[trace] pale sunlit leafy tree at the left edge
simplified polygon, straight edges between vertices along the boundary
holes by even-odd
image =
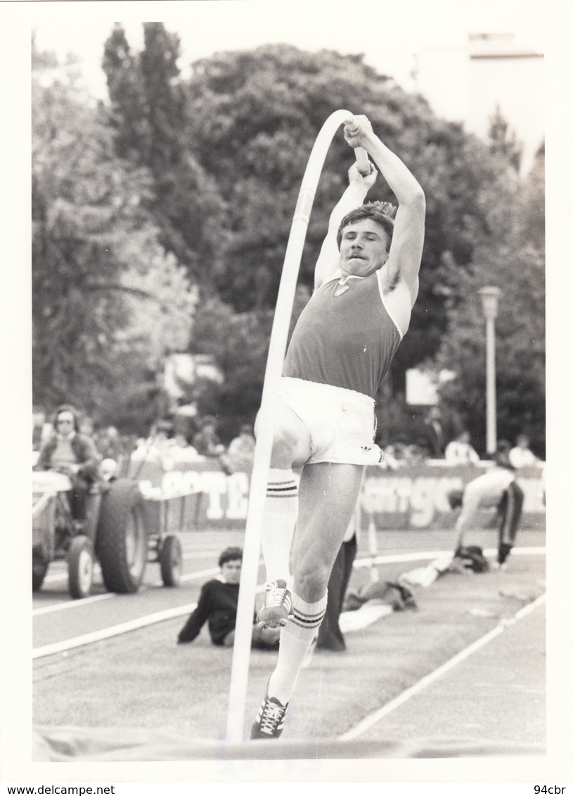
[[[108,401],[117,410],[129,392],[125,362],[135,349],[136,380],[161,366],[166,349],[185,349],[194,297],[142,206],[150,174],[115,155],[105,115],[84,102],[73,72],[46,72],[46,58],[36,64],[34,400],[72,400],[103,416]]]

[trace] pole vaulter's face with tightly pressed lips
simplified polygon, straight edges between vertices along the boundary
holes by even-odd
[[[349,224],[342,231],[341,270],[344,276],[369,276],[388,259],[388,234],[372,218]]]

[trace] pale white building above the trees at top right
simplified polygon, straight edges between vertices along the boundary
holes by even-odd
[[[415,90],[445,119],[487,135],[497,107],[523,144],[526,173],[544,140],[544,57],[513,33],[470,34],[462,47],[422,47]]]

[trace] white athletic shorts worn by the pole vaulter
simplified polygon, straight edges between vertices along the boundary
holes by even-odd
[[[378,464],[374,401],[361,392],[283,377],[279,397],[310,431],[308,464]]]

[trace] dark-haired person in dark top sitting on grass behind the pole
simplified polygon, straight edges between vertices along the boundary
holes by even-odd
[[[240,572],[243,564],[241,548],[226,548],[219,556],[220,575],[201,588],[197,608],[189,616],[177,636],[178,644],[192,642],[208,622],[211,641],[216,646],[233,646],[235,642],[236,612],[239,604]],[[278,628],[253,628],[251,646],[258,650],[276,650],[279,647]]]

